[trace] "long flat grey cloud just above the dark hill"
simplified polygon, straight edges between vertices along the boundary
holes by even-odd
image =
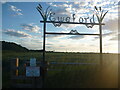
[[[8,29],[6,31],[3,31],[3,33],[10,35],[10,36],[15,36],[15,37],[31,37],[29,34],[24,33],[22,31],[16,31],[14,29]]]

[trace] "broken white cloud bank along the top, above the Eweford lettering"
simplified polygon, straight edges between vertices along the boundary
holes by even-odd
[[[94,0],[85,0],[85,1],[77,1],[77,2],[69,2],[69,3],[49,3],[50,6],[55,7],[54,11],[58,13],[75,13],[75,14],[82,14],[82,13],[90,13],[94,11],[94,6],[102,7],[104,10],[111,10],[115,6],[117,6],[117,1],[110,1],[107,2],[104,0],[101,1],[94,1]]]

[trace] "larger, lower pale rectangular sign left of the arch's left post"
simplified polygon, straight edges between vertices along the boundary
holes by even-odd
[[[39,77],[40,67],[26,67],[26,76],[27,77]]]

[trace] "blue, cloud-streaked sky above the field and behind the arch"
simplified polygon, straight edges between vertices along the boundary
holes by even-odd
[[[120,1],[118,0],[79,0],[78,2],[1,2],[2,4],[2,41],[15,42],[32,50],[40,50],[43,47],[43,23],[36,7],[41,4],[45,11],[55,13],[55,17],[70,17],[75,14],[75,22],[79,18],[92,18],[95,14],[94,6],[101,7],[104,12],[108,10],[102,27],[103,52],[118,52],[118,17]],[[49,21],[48,16],[48,21]],[[88,19],[89,22],[89,19]],[[95,22],[98,23],[95,16]],[[77,30],[79,33],[99,34],[99,26],[87,28],[86,25],[62,24],[55,27],[47,24],[47,32],[65,32]],[[46,35],[46,50],[56,52],[99,52],[99,37],[87,35]]]

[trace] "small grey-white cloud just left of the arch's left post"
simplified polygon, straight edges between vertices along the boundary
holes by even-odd
[[[24,30],[28,30],[35,33],[40,33],[41,30],[39,26],[33,24],[21,24],[21,26]]]

